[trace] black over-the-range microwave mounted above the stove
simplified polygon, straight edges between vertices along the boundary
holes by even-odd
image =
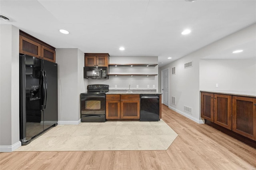
[[[108,67],[84,67],[85,79],[108,79]]]

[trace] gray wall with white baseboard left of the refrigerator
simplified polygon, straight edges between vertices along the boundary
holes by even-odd
[[[0,25],[0,152],[19,146],[19,29]]]

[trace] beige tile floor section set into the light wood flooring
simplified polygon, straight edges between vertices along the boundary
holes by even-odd
[[[167,150],[177,136],[162,119],[58,125],[15,151]]]

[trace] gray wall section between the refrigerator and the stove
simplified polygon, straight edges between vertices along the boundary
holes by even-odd
[[[80,93],[86,91],[83,78],[84,53],[77,48],[56,49],[58,63],[58,124],[80,123]]]

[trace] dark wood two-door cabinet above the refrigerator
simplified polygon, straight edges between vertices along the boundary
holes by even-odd
[[[31,55],[33,57],[45,59],[51,62],[56,61],[55,48],[51,45],[30,36],[20,30],[20,53]]]

